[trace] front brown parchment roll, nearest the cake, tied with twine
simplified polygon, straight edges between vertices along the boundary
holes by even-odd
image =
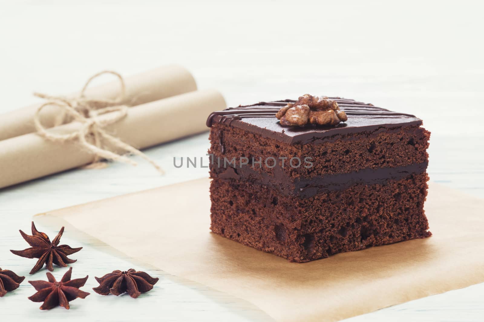
[[[207,131],[207,116],[226,107],[215,90],[185,93],[129,109],[127,117],[104,128],[136,148],[154,146]],[[111,113],[101,116],[111,117]],[[66,134],[79,130],[72,122],[49,132]],[[77,141],[54,143],[36,133],[0,141],[0,188],[90,163],[93,155]],[[156,173],[156,172],[155,172]]]

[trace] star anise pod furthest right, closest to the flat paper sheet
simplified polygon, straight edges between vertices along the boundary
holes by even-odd
[[[102,278],[96,278],[100,285],[93,290],[101,295],[111,293],[116,296],[128,292],[131,297],[136,298],[141,293],[150,291],[158,279],[145,272],[136,272],[133,268],[128,271],[113,271]]]

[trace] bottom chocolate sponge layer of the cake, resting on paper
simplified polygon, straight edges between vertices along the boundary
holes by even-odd
[[[213,179],[212,232],[292,262],[430,236],[427,174],[356,184],[310,198],[249,181]]]

